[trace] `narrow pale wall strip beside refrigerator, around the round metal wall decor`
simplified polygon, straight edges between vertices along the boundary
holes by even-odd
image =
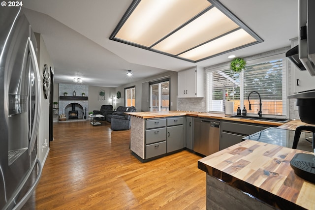
[[[48,51],[46,49],[44,40],[39,33],[35,33],[35,37],[37,40],[37,62],[39,67],[39,75],[41,76],[41,84],[43,82],[43,72],[44,65],[47,64],[48,69],[52,67],[54,69],[54,64],[50,59]],[[41,90],[43,91],[42,86]],[[49,144],[49,99],[44,98],[43,92],[41,92],[41,112],[40,112],[40,120],[39,120],[39,129],[37,135],[37,151],[38,158],[44,164],[46,157],[49,152],[49,148],[42,148],[44,143]]]

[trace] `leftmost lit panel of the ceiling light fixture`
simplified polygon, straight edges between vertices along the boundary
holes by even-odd
[[[210,5],[207,0],[141,0],[115,37],[149,47]]]

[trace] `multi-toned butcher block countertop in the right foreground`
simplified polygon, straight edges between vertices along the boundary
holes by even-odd
[[[315,184],[295,175],[295,153],[311,153],[246,140],[198,161],[198,168],[279,209],[315,209]]]

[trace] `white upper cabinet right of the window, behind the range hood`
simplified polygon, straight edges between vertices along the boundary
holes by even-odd
[[[294,39],[291,42],[291,47],[294,47],[298,44],[298,39]],[[293,93],[306,91],[306,90],[315,90],[315,76],[312,77],[309,71],[301,71],[293,63],[292,70],[292,90]]]

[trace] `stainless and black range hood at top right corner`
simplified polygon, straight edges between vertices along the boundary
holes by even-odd
[[[299,44],[286,57],[315,76],[315,0],[299,0]]]

